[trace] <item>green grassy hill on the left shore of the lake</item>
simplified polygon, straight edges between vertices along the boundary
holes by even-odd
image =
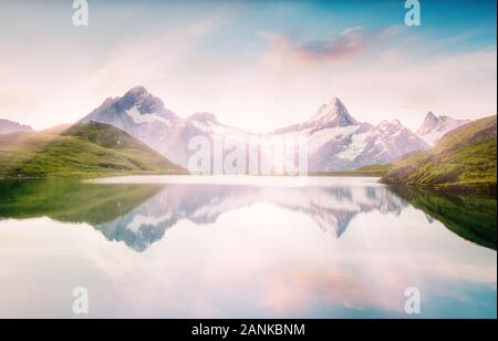
[[[181,167],[127,133],[100,123],[79,124],[61,135],[0,136],[0,177],[90,177],[180,173]]]

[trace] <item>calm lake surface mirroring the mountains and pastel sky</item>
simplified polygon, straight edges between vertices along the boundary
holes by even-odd
[[[0,182],[0,318],[496,318],[496,199],[375,178]]]

